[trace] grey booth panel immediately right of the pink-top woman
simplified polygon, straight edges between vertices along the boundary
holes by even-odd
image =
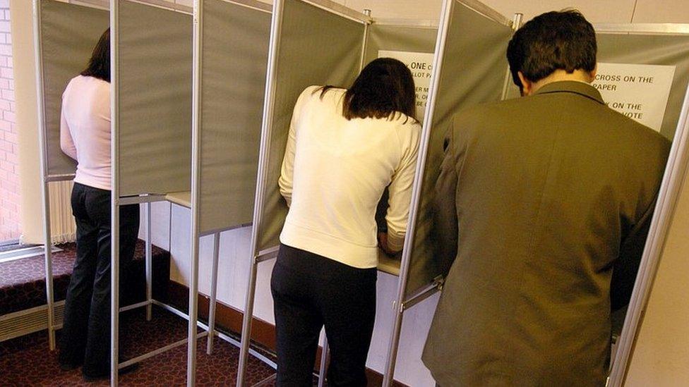
[[[188,191],[191,15],[119,1],[119,194]]]

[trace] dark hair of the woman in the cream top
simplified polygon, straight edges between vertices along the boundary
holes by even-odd
[[[320,94],[332,86],[323,87]],[[412,72],[405,63],[392,58],[378,58],[361,70],[357,80],[344,94],[342,115],[352,118],[391,118],[405,113],[416,120],[416,90]]]

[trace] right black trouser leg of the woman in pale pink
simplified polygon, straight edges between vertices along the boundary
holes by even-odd
[[[88,195],[86,208],[98,225],[97,265],[88,317],[88,340],[83,373],[88,376],[107,374],[110,367],[110,195],[94,192]],[[126,267],[134,254],[139,228],[139,206],[120,207],[120,267]],[[121,270],[124,272],[124,270]],[[122,276],[120,288],[126,281]]]

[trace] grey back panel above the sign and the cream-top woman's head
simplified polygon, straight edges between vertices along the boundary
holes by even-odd
[[[437,36],[437,27],[373,23],[369,28],[364,60],[369,63],[378,58],[379,50],[433,53]]]

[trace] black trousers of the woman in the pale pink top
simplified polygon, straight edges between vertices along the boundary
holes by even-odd
[[[83,363],[83,374],[102,376],[110,369],[110,191],[74,183],[71,202],[77,256],[67,288],[60,363]],[[120,207],[120,266],[133,258],[138,231],[138,204]]]

